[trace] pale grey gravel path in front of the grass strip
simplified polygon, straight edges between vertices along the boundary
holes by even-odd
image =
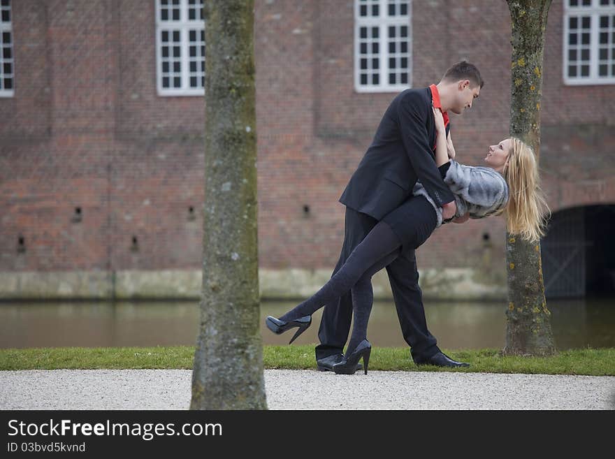
[[[187,409],[190,385],[191,370],[0,371],[0,409]],[[269,409],[615,409],[615,377],[265,370],[265,385]]]

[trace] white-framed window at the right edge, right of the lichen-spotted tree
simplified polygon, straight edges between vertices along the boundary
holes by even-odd
[[[615,85],[615,0],[565,0],[564,82]]]

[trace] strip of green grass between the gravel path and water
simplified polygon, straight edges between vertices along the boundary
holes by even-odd
[[[265,368],[316,370],[314,344],[266,346]],[[469,368],[417,367],[407,347],[372,349],[370,370],[457,371],[490,373],[588,374],[615,376],[615,349],[571,349],[553,357],[500,356],[499,349],[464,349],[444,352]],[[191,369],[194,347],[58,347],[0,349],[0,370],[58,369]]]

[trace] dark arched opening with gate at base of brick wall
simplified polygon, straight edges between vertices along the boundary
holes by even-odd
[[[615,297],[615,205],[554,212],[540,243],[547,298]]]

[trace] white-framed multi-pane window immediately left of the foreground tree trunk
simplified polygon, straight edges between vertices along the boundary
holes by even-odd
[[[203,0],[156,0],[159,96],[205,94]]]

